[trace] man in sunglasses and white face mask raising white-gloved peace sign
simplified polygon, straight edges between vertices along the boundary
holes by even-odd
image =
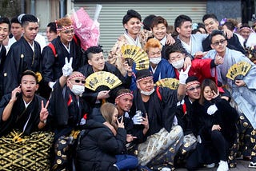
[[[76,138],[72,132],[79,130],[80,125],[85,124],[81,121],[88,113],[86,102],[80,97],[85,89],[85,77],[77,71],[73,72],[72,59],[70,58],[70,62],[67,58],[65,59],[66,64],[62,68],[63,75],[54,84],[50,98],[56,152],[53,170],[71,170],[72,144]]]

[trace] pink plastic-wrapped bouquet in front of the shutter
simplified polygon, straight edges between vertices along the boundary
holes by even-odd
[[[80,39],[83,50],[87,50],[90,46],[98,46],[100,31],[97,20],[101,9],[101,5],[96,6],[94,19],[91,19],[83,8],[75,12],[73,10],[70,16],[74,23],[74,33]]]

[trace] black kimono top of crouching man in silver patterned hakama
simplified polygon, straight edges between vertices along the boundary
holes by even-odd
[[[159,91],[161,97],[158,96],[157,91]],[[145,113],[147,113],[150,125],[150,129],[147,131],[146,136],[142,134],[142,131],[138,132],[141,133],[136,135],[138,137],[138,143],[146,141],[146,137],[158,133],[162,128],[165,128],[170,132],[174,121],[177,102],[177,90],[159,87],[158,90],[156,89],[154,93],[150,95],[148,109],[146,109],[146,103],[142,101],[140,90],[136,89],[134,91],[134,102],[130,112],[136,113],[136,110],[141,110],[143,117],[145,117]],[[132,117],[133,116],[130,118]],[[144,129],[144,125],[134,125],[134,129],[142,130]]]

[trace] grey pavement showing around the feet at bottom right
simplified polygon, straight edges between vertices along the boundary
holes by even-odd
[[[234,168],[234,169],[229,169],[230,171],[237,171],[237,170],[240,170],[240,171],[247,171],[247,170],[250,170],[250,171],[256,171],[256,169],[250,169],[248,167],[250,161],[242,161],[242,160],[237,160],[237,167]],[[186,168],[178,168],[178,169],[175,169],[176,171],[186,171],[187,169]],[[207,169],[207,168],[202,168],[202,169],[198,169],[200,171],[216,171],[217,170],[217,166],[215,166],[214,168],[212,169]]]

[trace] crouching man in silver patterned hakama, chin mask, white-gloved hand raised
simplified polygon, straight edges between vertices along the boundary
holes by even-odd
[[[174,113],[177,102],[185,95],[189,69],[180,74],[178,90],[154,87],[150,70],[138,70],[136,74],[138,89],[134,90],[134,105],[130,111],[136,113],[133,117],[134,129],[142,130],[142,134],[137,135],[140,142],[138,161],[142,166],[174,169],[174,156],[183,138],[182,128],[173,124]],[[141,125],[147,119],[149,129]]]

